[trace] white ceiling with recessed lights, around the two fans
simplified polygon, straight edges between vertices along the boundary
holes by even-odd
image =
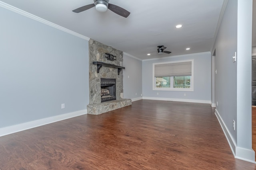
[[[210,51],[225,0],[110,0],[131,12],[128,18],[95,8],[72,12],[93,0],[1,1],[139,59],[152,59]],[[177,24],[183,27],[176,29]],[[172,53],[156,53],[158,45]]]

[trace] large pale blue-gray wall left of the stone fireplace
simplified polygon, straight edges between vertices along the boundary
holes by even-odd
[[[0,128],[86,109],[88,41],[4,8],[0,21]]]

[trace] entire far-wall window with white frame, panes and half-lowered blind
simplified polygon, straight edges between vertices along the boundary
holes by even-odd
[[[153,64],[153,90],[193,91],[193,60]]]

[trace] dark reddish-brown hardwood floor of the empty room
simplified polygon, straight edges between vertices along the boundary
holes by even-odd
[[[0,137],[0,170],[254,170],[210,104],[139,100]]]

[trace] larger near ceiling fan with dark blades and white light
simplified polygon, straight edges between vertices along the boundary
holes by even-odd
[[[125,18],[127,18],[130,15],[130,12],[125,10],[124,8],[121,8],[120,6],[116,6],[114,4],[109,4],[108,2],[109,0],[94,0],[94,4],[82,6],[80,8],[73,10],[73,12],[83,12],[95,6],[98,12],[106,12],[108,9],[110,9],[112,12]]]

